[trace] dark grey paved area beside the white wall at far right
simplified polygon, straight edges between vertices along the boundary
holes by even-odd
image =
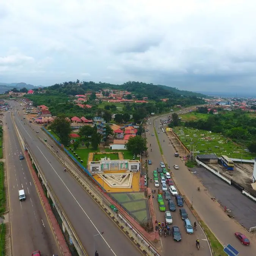
[[[232,211],[231,214],[239,223],[247,229],[255,226],[256,207],[253,201],[202,167],[192,168],[191,172],[202,181],[204,187],[217,198],[223,207],[226,206]]]

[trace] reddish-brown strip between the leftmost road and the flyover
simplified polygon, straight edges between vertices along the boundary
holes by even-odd
[[[39,178],[38,176],[36,175],[36,172],[32,166],[32,162],[29,158],[29,155],[28,155],[28,151],[25,151],[25,143],[24,143],[24,139],[22,138],[22,136],[20,135],[20,132],[16,126],[16,123],[14,122],[13,118],[12,118],[12,121],[13,121],[13,124],[14,124],[14,129],[16,131],[16,133],[18,134],[18,140],[20,142],[20,144],[22,146],[24,146],[24,149],[23,152],[24,152],[24,155],[25,155],[25,159],[28,163],[28,167],[29,167],[29,170],[30,170],[30,173],[31,173],[31,176],[33,178],[33,181],[35,183],[35,187],[36,187],[36,190],[38,192],[38,195],[39,195],[39,198],[41,200],[41,203],[42,203],[42,206],[44,208],[44,211],[47,213],[46,214],[46,217],[47,217],[47,220],[49,221],[49,225],[51,225],[51,229],[55,235],[55,239],[57,240],[58,242],[58,245],[60,247],[60,250],[61,250],[61,253],[65,256],[71,256],[71,253],[69,251],[69,248],[68,248],[68,245],[66,243],[66,240],[61,232],[61,229],[60,229],[60,226],[58,225],[58,222],[52,212],[52,209],[50,207],[50,204],[49,204],[49,201],[48,199],[46,198],[45,194],[44,194],[44,191],[43,191],[43,188],[42,188],[42,185],[39,181]],[[39,166],[38,166],[38,171],[39,171]],[[46,182],[45,182],[46,184]],[[86,255],[85,255],[86,256]]]

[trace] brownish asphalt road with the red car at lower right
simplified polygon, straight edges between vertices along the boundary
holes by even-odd
[[[166,116],[161,118],[165,119]],[[160,118],[157,118],[154,121],[154,125],[157,129],[159,126],[159,120]],[[239,255],[254,255],[256,251],[256,243],[252,242],[249,247],[245,247],[234,236],[235,232],[241,232],[246,234],[246,236],[252,240],[253,238],[251,237],[250,233],[245,231],[233,219],[229,218],[223,212],[223,209],[218,205],[218,203],[213,202],[210,199],[209,192],[204,191],[203,189],[200,192],[197,191],[198,186],[201,186],[202,188],[201,182],[199,182],[198,179],[188,171],[187,167],[184,165],[184,162],[179,157],[174,157],[175,151],[174,148],[168,143],[166,133],[159,133],[158,135],[168,165],[171,167],[174,164],[179,165],[179,170],[174,170],[171,168],[178,188],[182,190],[182,194],[185,195],[190,202],[193,201],[193,208],[199,214],[201,219],[212,230],[212,232],[224,246],[230,243],[240,252]],[[153,139],[151,138],[151,140]],[[163,142],[163,140],[165,140],[165,142]]]

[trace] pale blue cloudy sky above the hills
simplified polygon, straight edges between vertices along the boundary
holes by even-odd
[[[256,94],[254,0],[0,0],[0,82]]]

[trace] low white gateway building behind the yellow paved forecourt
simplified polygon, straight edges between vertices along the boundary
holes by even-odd
[[[105,171],[138,172],[140,170],[139,160],[110,160],[102,158],[99,161],[89,162],[89,171],[92,174],[104,173]]]

